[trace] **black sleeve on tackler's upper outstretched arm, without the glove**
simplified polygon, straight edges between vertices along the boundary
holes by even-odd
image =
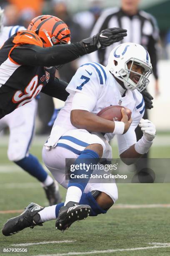
[[[10,57],[20,65],[51,67],[68,63],[86,54],[79,43],[42,48],[25,44],[13,49]]]

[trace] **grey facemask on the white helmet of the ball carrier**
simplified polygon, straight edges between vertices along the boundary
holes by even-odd
[[[130,68],[128,69],[128,64],[131,62]],[[133,67],[135,65],[140,66],[143,71],[142,74],[135,72]],[[134,76],[136,74],[136,76]],[[125,62],[125,68],[120,69],[118,72],[117,78],[124,82],[125,88],[128,90],[135,90],[137,89],[139,92],[142,92],[147,85],[149,84],[148,77],[152,74],[152,68],[146,62],[141,61],[139,59],[131,58]],[[133,80],[131,79],[133,77]],[[134,77],[138,78],[138,80]]]

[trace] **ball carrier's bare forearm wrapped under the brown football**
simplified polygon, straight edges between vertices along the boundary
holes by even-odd
[[[100,118],[86,110],[72,110],[70,121],[76,128],[90,132],[112,133],[115,129],[113,121]]]

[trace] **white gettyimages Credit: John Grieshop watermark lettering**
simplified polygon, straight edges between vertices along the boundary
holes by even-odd
[[[70,165],[70,179],[127,179],[127,175],[112,174],[110,172],[117,170],[116,164],[71,164]],[[95,170],[95,172],[91,172]],[[81,172],[77,174],[76,171]],[[83,172],[83,173],[82,173]]]

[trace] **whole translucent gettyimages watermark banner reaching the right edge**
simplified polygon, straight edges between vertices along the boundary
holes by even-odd
[[[170,158],[65,159],[65,179],[89,183],[170,183]],[[130,164],[138,162],[138,164]],[[128,163],[125,164],[125,163]],[[88,179],[88,181],[87,181]]]

